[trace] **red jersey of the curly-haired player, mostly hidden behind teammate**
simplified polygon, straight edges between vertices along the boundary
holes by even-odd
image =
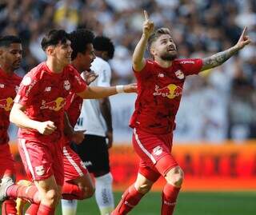
[[[67,113],[67,116],[69,117],[70,125],[73,128],[78,121],[78,117],[80,116],[82,101],[83,99],[81,97],[78,97],[76,94],[70,94],[66,99],[65,111]],[[64,145],[70,145],[70,141],[70,137],[64,137]]]

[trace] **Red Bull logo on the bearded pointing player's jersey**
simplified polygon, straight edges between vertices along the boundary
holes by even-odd
[[[182,88],[179,86],[176,86],[174,84],[170,84],[168,86],[165,86],[163,88],[160,88],[158,85],[154,88],[154,96],[162,96],[167,98],[175,98],[182,94]]]

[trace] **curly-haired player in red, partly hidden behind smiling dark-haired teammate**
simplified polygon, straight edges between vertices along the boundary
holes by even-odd
[[[73,50],[72,66],[78,70],[79,74],[85,77],[86,71],[90,70],[91,63],[94,61],[95,54],[93,48],[94,34],[90,30],[76,30],[70,33],[71,48]],[[92,78],[94,78],[92,76]],[[91,81],[90,81],[91,82]],[[89,82],[87,82],[89,84]],[[92,197],[94,194],[94,184],[90,173],[83,164],[77,153],[70,148],[71,141],[79,144],[83,138],[83,132],[74,131],[74,125],[78,121],[81,112],[83,99],[76,94],[70,94],[69,101],[66,103],[66,114],[70,122],[71,131],[66,137],[63,146],[63,162],[65,182],[62,189],[62,214],[76,214],[76,201]],[[67,136],[67,135],[66,135]]]

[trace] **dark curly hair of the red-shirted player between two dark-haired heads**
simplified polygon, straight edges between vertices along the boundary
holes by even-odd
[[[84,54],[88,44],[94,42],[94,33],[87,29],[78,29],[70,33],[69,38],[71,41],[71,48],[73,50],[71,54],[72,61],[77,58],[78,53]]]

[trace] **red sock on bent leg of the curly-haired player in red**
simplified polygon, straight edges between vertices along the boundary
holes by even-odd
[[[78,185],[73,185],[67,182],[64,182],[62,187],[62,198],[66,200],[82,200],[84,199],[85,192]]]

